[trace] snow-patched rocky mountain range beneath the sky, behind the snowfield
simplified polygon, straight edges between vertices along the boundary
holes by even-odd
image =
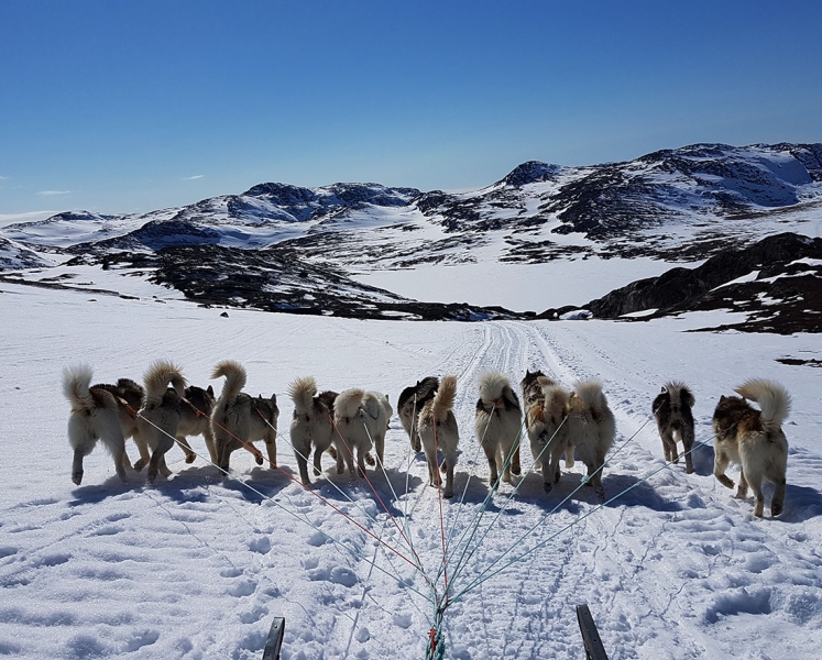
[[[469,266],[487,266],[453,294],[471,300],[471,287],[482,287],[503,267],[511,273],[514,266],[538,266],[527,286],[545,288],[533,308],[550,317],[563,309],[550,305],[551,294],[572,286],[579,268],[588,266],[596,287],[588,297],[580,292],[565,309],[612,318],[614,310],[633,315],[659,306],[614,305],[634,280],[598,272],[603,263],[631,261],[662,277],[669,267],[693,268],[769,235],[814,235],[821,218],[822,144],[695,144],[584,167],[533,161],[490,186],[459,194],[380,184],[264,183],[240,195],[143,215],[59,213],[0,230],[0,267],[15,271],[3,275],[14,280],[46,279],[41,275],[48,267],[59,267],[64,279],[66,268],[78,266],[129,275],[136,270],[210,305],[475,319],[536,312],[503,309],[505,299],[420,302],[407,287],[401,295],[375,284],[383,274],[408,273],[413,283],[435,266],[449,267],[437,275],[449,279]],[[571,263],[573,276],[565,268]],[[547,280],[545,266],[554,268]],[[738,276],[734,273],[728,268],[719,277],[727,283]],[[612,289],[609,304],[596,305],[602,296],[590,296]]]

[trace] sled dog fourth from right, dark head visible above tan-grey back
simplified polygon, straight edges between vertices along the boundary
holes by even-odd
[[[541,464],[542,487],[547,493],[559,481],[560,458],[565,457],[566,468],[573,466],[573,448],[569,447],[565,435],[557,433],[566,417],[570,393],[559,388],[540,371],[526,371],[520,386],[534,468]]]

